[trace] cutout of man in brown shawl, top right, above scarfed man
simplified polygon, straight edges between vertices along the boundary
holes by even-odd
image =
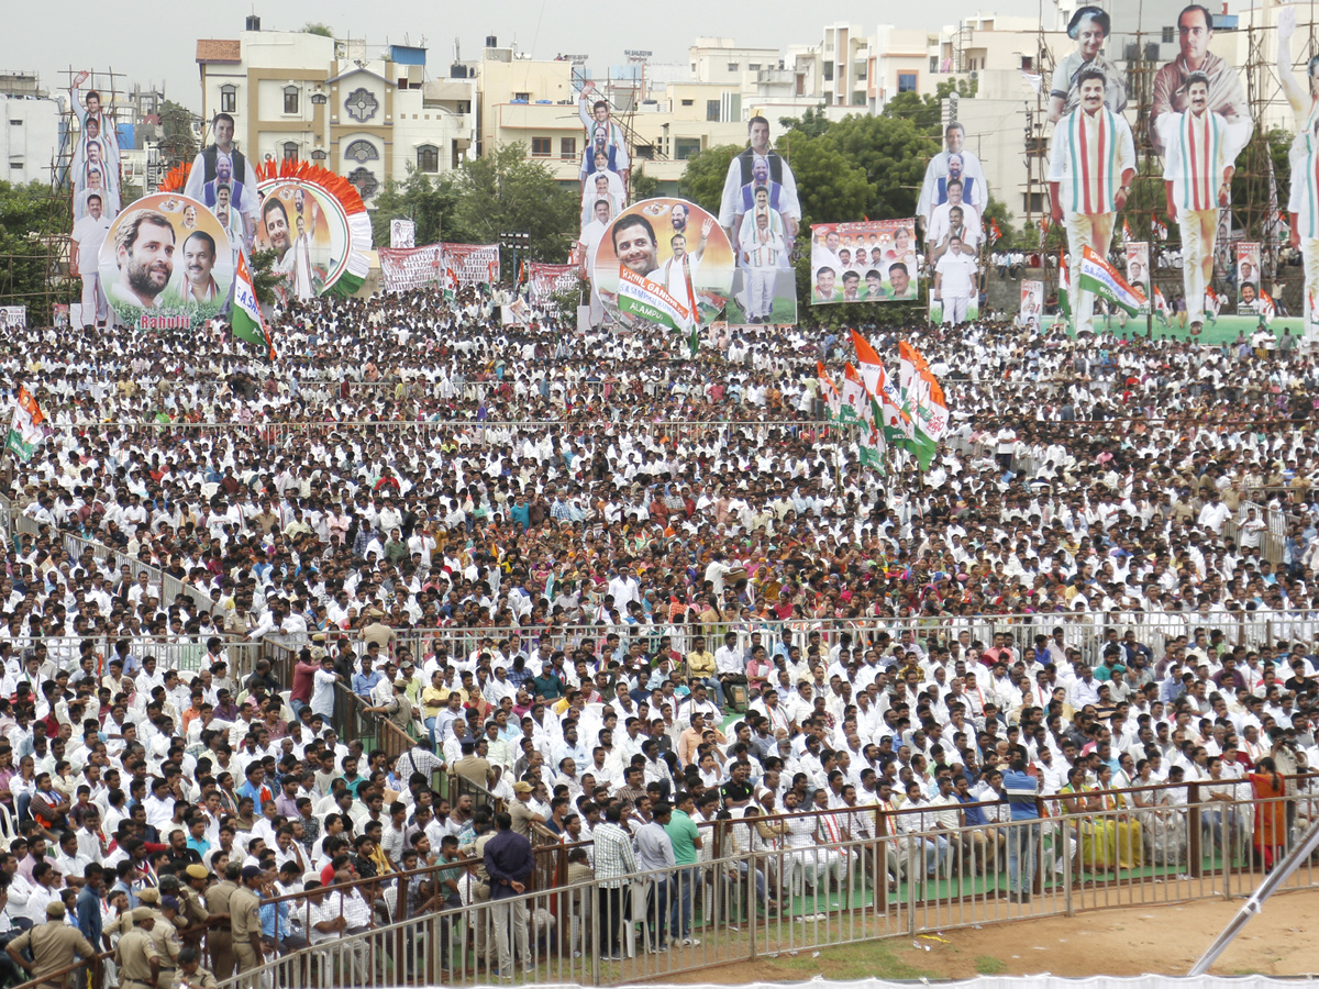
[[[1207,8],[1190,4],[1177,18],[1181,54],[1158,70],[1154,76],[1154,99],[1150,103],[1150,142],[1157,154],[1165,153],[1159,121],[1165,113],[1181,113],[1187,108],[1186,80],[1191,73],[1204,73],[1210,80],[1210,109],[1223,116],[1235,137],[1233,142],[1245,148],[1254,124],[1250,105],[1241,87],[1236,66],[1210,51],[1213,37],[1213,18]]]

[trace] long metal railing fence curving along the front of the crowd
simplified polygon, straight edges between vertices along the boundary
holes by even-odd
[[[783,819],[757,828],[747,818],[720,823],[721,848],[695,865],[600,878],[578,861],[553,885],[495,902],[475,860],[459,862],[439,909],[244,974],[276,986],[476,985],[496,973],[613,985],[894,935],[1241,897],[1319,820],[1311,794],[1224,799],[1204,782],[1058,795],[1041,807],[1039,820],[979,827],[946,827],[950,808],[930,804],[842,808],[798,815],[786,836],[772,827]],[[1316,885],[1310,862],[1283,889]]]

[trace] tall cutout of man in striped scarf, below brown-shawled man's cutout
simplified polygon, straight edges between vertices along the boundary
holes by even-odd
[[[1210,109],[1210,76],[1186,76],[1186,109],[1159,117],[1163,148],[1163,190],[1167,215],[1182,228],[1182,280],[1191,332],[1204,326],[1204,290],[1213,281],[1213,241],[1219,233],[1219,207],[1228,204],[1232,173],[1250,132],[1229,128]]]

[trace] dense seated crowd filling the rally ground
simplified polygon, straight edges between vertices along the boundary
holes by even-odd
[[[1308,355],[863,331],[890,373],[911,339],[944,382],[926,471],[864,467],[856,429],[820,422],[845,331],[718,330],[689,359],[501,326],[466,291],[293,303],[274,364],[223,327],[11,332],[7,393],[50,433],[8,472],[9,960],[62,923],[66,960],[128,942],[127,989],[223,978],[402,909],[357,878],[454,862],[409,913],[514,898],[537,829],[609,915],[629,876],[695,868],[720,815],[761,818],[727,840],[782,860],[877,837],[807,810],[930,804],[900,831],[983,828],[983,852],[1033,818],[1022,787],[1086,815],[1150,782],[1249,799],[1319,760]],[[236,669],[261,641],[294,662]],[[350,703],[415,746],[344,744]],[[1128,858],[1184,841],[1137,811]],[[787,902],[793,868],[751,872]],[[656,949],[692,940],[694,889],[658,894]],[[302,914],[261,906],[302,891]],[[504,973],[518,923],[489,939]]]

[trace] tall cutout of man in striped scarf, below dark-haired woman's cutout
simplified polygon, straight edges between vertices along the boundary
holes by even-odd
[[[1104,74],[1080,74],[1080,108],[1054,129],[1049,156],[1049,195],[1054,223],[1064,223],[1071,251],[1072,311],[1076,332],[1095,332],[1095,293],[1082,291],[1086,247],[1108,257],[1113,216],[1126,204],[1136,177],[1136,145],[1126,120],[1104,105]]]

